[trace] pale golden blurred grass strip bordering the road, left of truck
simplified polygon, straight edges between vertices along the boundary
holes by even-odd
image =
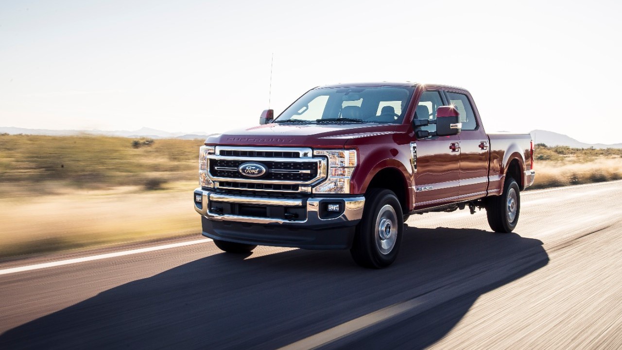
[[[195,183],[162,191],[59,188],[55,195],[0,200],[0,258],[200,234]]]

